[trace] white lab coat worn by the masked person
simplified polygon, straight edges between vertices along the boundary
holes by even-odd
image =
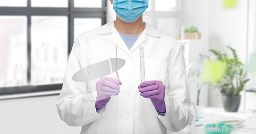
[[[122,82],[120,93],[112,96],[97,113],[95,98],[99,78],[86,83],[75,82],[72,76],[88,65],[116,58],[116,44],[118,58],[125,60],[125,65],[118,70]],[[157,80],[165,85],[164,117],[158,115],[151,100],[140,96],[138,91],[141,46],[144,47],[146,81]],[[116,73],[106,77],[116,78]],[[114,21],[79,35],[56,104],[60,118],[70,126],[82,126],[81,134],[167,133],[167,130],[182,130],[194,117],[181,45],[148,23],[130,51],[115,29]]]

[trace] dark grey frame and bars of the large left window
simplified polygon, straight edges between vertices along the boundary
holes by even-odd
[[[31,16],[67,16],[68,17],[68,53],[74,43],[74,18],[101,18],[101,25],[106,23],[106,2],[102,1],[102,8],[74,8],[74,0],[68,1],[68,8],[59,7],[31,7],[31,0],[27,0],[27,7],[1,7],[1,16],[27,16],[27,84],[26,86],[1,87],[0,100],[26,98],[45,95],[58,95],[62,84],[30,85],[31,82]],[[68,55],[67,55],[68,57]],[[48,93],[46,93],[48,92]]]

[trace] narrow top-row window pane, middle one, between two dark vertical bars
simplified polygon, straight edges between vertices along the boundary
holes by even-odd
[[[31,7],[68,7],[68,0],[31,0]]]

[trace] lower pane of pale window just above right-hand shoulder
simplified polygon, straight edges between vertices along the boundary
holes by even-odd
[[[159,18],[157,29],[160,33],[169,35],[177,39],[179,28],[179,19],[176,18]]]

